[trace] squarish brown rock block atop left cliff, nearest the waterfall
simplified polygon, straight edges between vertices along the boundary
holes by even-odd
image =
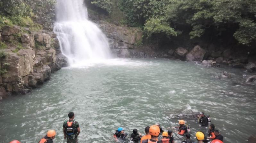
[[[52,44],[52,38],[50,35],[45,33],[35,33],[33,36],[36,42],[36,48],[39,48],[40,50],[50,49]]]

